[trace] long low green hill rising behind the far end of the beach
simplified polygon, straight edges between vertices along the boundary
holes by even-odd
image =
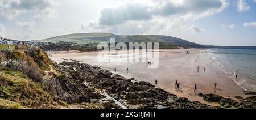
[[[43,42],[57,43],[74,42],[80,45],[95,44],[100,42],[109,42],[110,38],[115,38],[116,42],[159,42],[159,48],[206,48],[204,45],[195,44],[180,38],[160,35],[114,35],[110,33],[77,33],[63,35],[45,40],[36,40]]]

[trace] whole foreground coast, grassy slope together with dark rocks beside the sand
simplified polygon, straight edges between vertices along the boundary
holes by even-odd
[[[256,108],[255,97],[234,101],[203,95],[224,108]],[[0,108],[218,109],[189,101],[147,82],[126,79],[79,62],[57,65],[39,48],[17,46],[0,52]]]

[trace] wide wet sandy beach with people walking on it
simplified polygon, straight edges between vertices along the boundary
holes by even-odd
[[[47,54],[57,63],[73,59],[106,68],[112,70],[112,72],[114,72],[114,68],[117,68],[117,74],[126,78],[136,78],[150,82],[151,84],[155,84],[155,79],[157,79],[159,88],[205,104],[209,103],[195,95],[193,91],[195,84],[197,84],[198,91],[201,93],[214,93],[233,99],[236,99],[234,96],[248,96],[243,93],[241,87],[225,75],[225,72],[217,67],[216,61],[209,57],[204,49],[189,49],[190,54],[186,54],[186,50],[160,49],[159,67],[155,69],[147,68],[146,63],[100,63],[97,61],[99,52],[69,51],[47,52]],[[197,71],[197,67],[199,67],[199,71]],[[126,68],[129,68],[128,74]],[[175,91],[175,80],[180,85],[181,91],[179,92]],[[214,89],[215,82],[217,82],[216,90]],[[217,103],[210,103],[209,105],[218,106]]]

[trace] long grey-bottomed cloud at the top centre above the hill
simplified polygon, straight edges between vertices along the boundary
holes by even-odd
[[[225,0],[151,0],[146,3],[129,1],[123,5],[104,8],[100,12],[100,25],[117,25],[127,21],[151,20],[154,17],[170,17],[185,14],[212,14],[223,6]]]

